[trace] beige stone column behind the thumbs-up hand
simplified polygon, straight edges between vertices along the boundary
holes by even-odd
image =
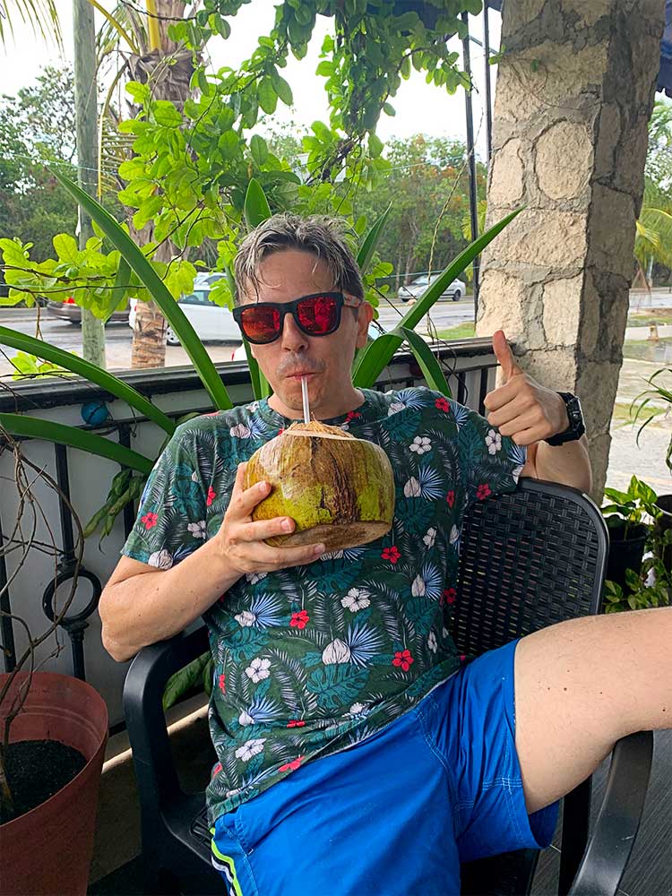
[[[665,0],[505,0],[477,333],[575,392],[601,499]]]

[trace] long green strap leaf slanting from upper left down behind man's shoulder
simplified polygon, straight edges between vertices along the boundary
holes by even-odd
[[[117,221],[98,202],[91,199],[71,180],[56,171],[52,174],[56,177],[73,199],[80,203],[84,211],[87,211],[92,220],[95,220],[99,228],[108,237],[109,241],[119,252],[124,255],[126,261],[140,278],[142,285],[147,288],[151,297],[161,309],[161,313],[167,318],[168,323],[182,343],[189,358],[192,359],[196,372],[201,378],[205,389],[210,393],[212,402],[217,409],[230,409],[233,402],[228,396],[224,383],[217,373],[215,366],[203,347],[202,341],[196,336],[194,327],[186,319],[182,308],[177,304],[168,292],[168,289],[159,278],[159,275],[145,258],[138,246],[129,237]]]

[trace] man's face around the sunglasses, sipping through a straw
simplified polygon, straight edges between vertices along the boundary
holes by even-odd
[[[334,284],[327,266],[314,254],[285,249],[266,258],[257,272],[258,295],[248,289],[244,304],[291,302]],[[353,389],[350,367],[355,349],[366,345],[366,332],[373,317],[367,302],[356,311],[344,307],[340,327],[329,336],[308,336],[291,314],[286,314],[282,332],[267,345],[251,346],[254,358],[273,389],[271,407],[284,417],[302,418],[301,375],[307,375],[311,414],[318,419],[337,417],[356,407],[361,398]]]

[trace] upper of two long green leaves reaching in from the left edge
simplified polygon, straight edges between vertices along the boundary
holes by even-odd
[[[54,364],[65,367],[67,370],[71,370],[73,374],[79,374],[90,380],[91,383],[96,383],[96,385],[99,385],[112,395],[116,395],[116,398],[122,399],[130,407],[153,420],[168,435],[172,435],[175,432],[173,421],[162,410],[159,410],[156,405],[153,405],[151,401],[146,399],[144,395],[137,392],[133,386],[129,386],[115,375],[109,374],[102,367],[73,355],[72,352],[58,349],[55,345],[50,345],[48,342],[34,339],[32,336],[26,336],[24,333],[16,332],[9,327],[3,326],[0,326],[0,345],[28,351],[32,355],[37,355],[38,358],[45,358],[47,361],[52,361]]]

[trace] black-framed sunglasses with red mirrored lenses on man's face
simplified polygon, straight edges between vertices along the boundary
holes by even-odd
[[[293,302],[257,302],[233,309],[234,320],[248,342],[266,345],[280,337],[285,314],[291,314],[306,336],[328,336],[340,326],[343,306],[357,308],[360,298],[344,296],[342,292],[316,292]]]

